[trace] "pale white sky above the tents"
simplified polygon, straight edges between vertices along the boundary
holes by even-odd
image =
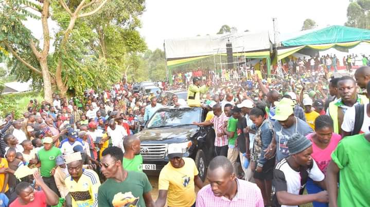
[[[319,27],[344,25],[349,0],[146,0],[140,34],[148,48],[163,49],[165,39],[216,34],[222,25],[238,32],[273,31],[277,18],[280,33],[301,30],[306,18]]]

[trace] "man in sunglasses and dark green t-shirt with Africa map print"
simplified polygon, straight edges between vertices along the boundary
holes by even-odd
[[[98,206],[155,206],[152,186],[143,172],[126,171],[122,166],[124,153],[116,146],[102,153],[101,172],[107,178],[98,190]]]

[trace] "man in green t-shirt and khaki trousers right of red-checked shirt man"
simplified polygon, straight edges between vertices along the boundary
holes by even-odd
[[[231,104],[226,104],[223,110],[226,117],[229,117],[227,121],[227,126],[224,126],[223,128],[223,133],[228,137],[227,159],[229,159],[230,162],[233,164],[234,173],[238,175],[238,170],[235,166],[236,159],[238,159],[239,156],[239,149],[237,147],[237,143],[235,143],[238,138],[238,120],[234,119],[231,115],[232,111],[238,110],[240,112],[240,109],[231,109]]]

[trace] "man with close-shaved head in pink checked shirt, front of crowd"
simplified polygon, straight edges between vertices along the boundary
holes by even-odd
[[[257,185],[238,179],[233,172],[233,165],[226,157],[217,156],[210,161],[207,179],[209,184],[198,192],[197,207],[265,206]]]

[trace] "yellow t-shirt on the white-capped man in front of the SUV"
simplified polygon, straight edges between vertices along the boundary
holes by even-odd
[[[160,173],[158,190],[168,190],[168,206],[191,206],[196,200],[194,176],[198,169],[193,159],[184,157],[185,164],[174,168],[168,162]]]

